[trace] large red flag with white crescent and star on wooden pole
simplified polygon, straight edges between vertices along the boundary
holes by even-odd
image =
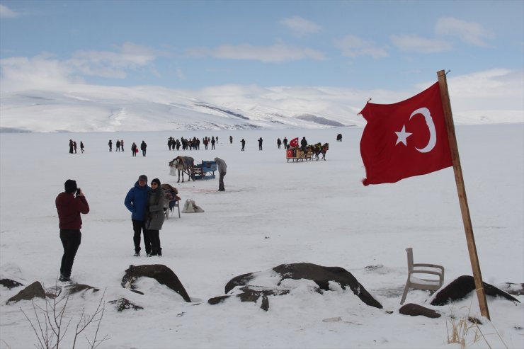
[[[364,185],[395,183],[452,166],[438,82],[406,101],[367,103],[360,139]]]

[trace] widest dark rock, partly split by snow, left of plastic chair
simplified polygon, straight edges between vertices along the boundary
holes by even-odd
[[[373,298],[372,295],[365,290],[363,285],[360,285],[360,282],[346,269],[340,267],[324,267],[312,263],[292,263],[278,265],[273,268],[273,270],[280,275],[280,282],[284,279],[308,279],[314,281],[321,290],[329,290],[329,282],[331,281],[338,282],[344,290],[346,290],[346,287],[350,287],[353,293],[365,304],[382,309],[382,304]],[[229,291],[237,286],[249,285],[249,282],[251,282],[255,276],[256,273],[247,273],[229,280],[225,287],[225,292],[229,293]]]

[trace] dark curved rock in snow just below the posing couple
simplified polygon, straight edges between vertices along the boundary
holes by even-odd
[[[186,289],[183,287],[182,282],[178,280],[176,274],[173,273],[173,270],[162,264],[130,265],[129,269],[125,270],[125,275],[120,285],[124,288],[136,290],[135,281],[142,277],[155,279],[162,285],[166,285],[171,290],[180,294],[186,302],[191,302],[188,292],[186,292]]]

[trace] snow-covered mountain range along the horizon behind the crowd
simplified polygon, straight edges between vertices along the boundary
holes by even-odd
[[[375,92],[380,94],[379,92]],[[389,93],[387,97],[398,98]],[[377,98],[379,99],[379,98]],[[384,99],[384,98],[380,98]],[[380,100],[379,99],[379,100]],[[1,92],[0,132],[249,130],[363,126],[368,98],[340,88],[219,86],[205,91],[72,85]],[[518,110],[463,110],[457,124],[522,122]],[[458,117],[457,117],[458,116]]]

